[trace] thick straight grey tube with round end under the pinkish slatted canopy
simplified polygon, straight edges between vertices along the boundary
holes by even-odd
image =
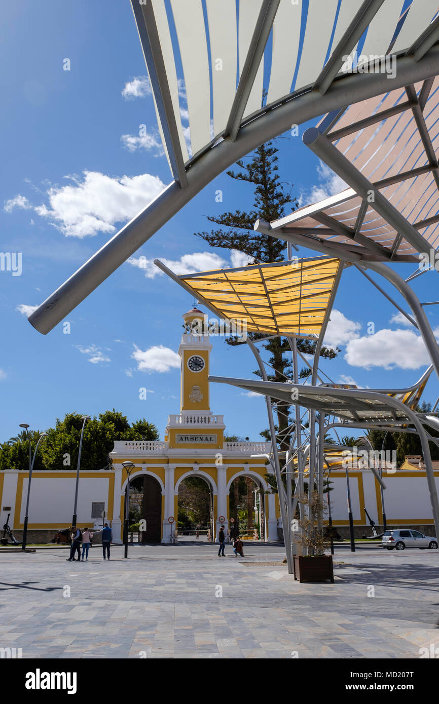
[[[407,239],[407,242],[418,252],[423,252],[426,249],[426,241],[421,237],[413,225],[404,218],[404,215],[399,210],[392,206],[392,203],[383,196],[383,194],[374,186],[365,176],[359,172],[357,168],[338,151],[324,134],[319,132],[316,127],[309,127],[303,135],[303,142],[309,149],[322,159],[336,174],[350,185],[354,191],[371,203],[374,210],[381,215],[387,222],[402,236]]]

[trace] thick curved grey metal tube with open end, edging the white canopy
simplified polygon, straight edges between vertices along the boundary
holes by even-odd
[[[433,46],[418,62],[411,56],[397,58],[397,74],[392,79],[392,88],[402,88],[410,83],[425,80],[436,75],[438,70],[439,46]],[[288,96],[276,109],[271,106],[270,109],[262,110],[252,121],[241,127],[235,142],[224,139],[215,146],[211,145],[202,156],[194,159],[187,170],[187,188],[181,189],[176,182],[169,184],[152,203],[132,218],[30,315],[30,324],[42,334],[50,332],[157,230],[171,220],[180,208],[189,203],[206,184],[237,159],[268,139],[289,130],[292,123],[302,125],[307,120],[318,118],[319,115],[329,113],[340,106],[350,105],[353,101],[360,102],[386,93],[388,89],[389,81],[385,74],[346,75],[334,81],[324,96],[308,90],[294,97]],[[335,256],[340,255],[337,252]]]

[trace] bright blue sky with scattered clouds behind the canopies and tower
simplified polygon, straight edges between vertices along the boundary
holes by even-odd
[[[20,276],[0,272],[1,440],[16,434],[20,422],[44,429],[70,411],[94,415],[113,407],[130,421],[147,417],[163,437],[168,414],[179,410],[175,352],[181,315],[193,301],[135,259],[158,257],[174,269],[189,263],[194,271],[218,268],[219,259],[230,265],[228,251],[209,248],[193,233],[209,230],[205,215],[252,206],[251,190],[218,177],[70,314],[70,334],[62,323],[45,337],[37,333],[20,306],[41,303],[171,177],[128,2],[45,0],[42,9],[23,0],[6,4],[3,14],[0,249],[21,252],[23,270]],[[70,70],[63,70],[66,58]],[[136,137],[141,124],[147,126],[142,143]],[[280,177],[303,202],[311,201],[313,189],[330,193],[337,185],[303,146],[306,127],[278,142]],[[407,277],[415,268],[397,270]],[[413,282],[421,301],[438,298],[437,276],[428,272]],[[329,341],[342,352],[323,361],[332,379],[399,387],[421,376],[427,362],[416,331],[390,322],[397,311],[352,268],[342,277],[335,309]],[[426,310],[438,327],[436,307]],[[369,322],[375,334],[367,334]],[[247,348],[229,348],[222,339],[213,344],[213,374],[250,377],[255,364]],[[166,349],[154,353],[156,346]],[[262,398],[212,386],[211,408],[225,415],[228,432],[259,439],[266,427]],[[142,401],[141,387],[148,389]],[[434,402],[438,395],[431,379],[423,398]]]

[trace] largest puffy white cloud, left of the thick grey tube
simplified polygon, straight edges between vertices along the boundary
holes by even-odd
[[[114,223],[126,222],[163,190],[159,177],[110,177],[85,171],[83,180],[68,177],[73,184],[47,191],[50,207],[35,208],[67,237],[87,237],[98,232],[113,234]]]

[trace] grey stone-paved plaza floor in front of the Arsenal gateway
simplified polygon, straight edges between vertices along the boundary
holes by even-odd
[[[439,647],[438,551],[336,548],[299,584],[280,545],[0,553],[0,647],[22,658],[419,658]],[[256,563],[256,564],[255,564]],[[257,564],[263,563],[263,564]]]

